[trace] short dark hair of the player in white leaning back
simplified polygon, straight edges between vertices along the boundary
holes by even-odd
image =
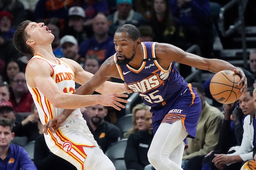
[[[29,35],[26,33],[25,29],[29,23],[32,23],[32,21],[25,20],[20,23],[12,39],[14,47],[17,49],[17,51],[24,55],[34,55],[33,49],[26,44],[26,40],[29,38]]]

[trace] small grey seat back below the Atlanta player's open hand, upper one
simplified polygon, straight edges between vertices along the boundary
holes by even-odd
[[[133,127],[132,125],[132,114],[126,114],[125,116],[120,117],[116,121],[116,126],[119,127],[122,133],[127,132]]]

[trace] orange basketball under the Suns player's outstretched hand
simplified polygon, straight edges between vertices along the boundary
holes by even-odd
[[[235,74],[234,71],[219,71],[210,81],[209,88],[212,97],[223,104],[236,102],[242,94],[240,92],[242,85],[237,85],[240,79],[239,75]]]

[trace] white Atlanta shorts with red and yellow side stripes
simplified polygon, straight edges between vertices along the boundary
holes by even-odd
[[[49,150],[72,163],[78,170],[84,169],[84,161],[88,156],[84,150],[99,148],[86,121],[79,115],[68,117],[56,133],[49,129],[47,131],[48,135],[44,135],[44,138]]]

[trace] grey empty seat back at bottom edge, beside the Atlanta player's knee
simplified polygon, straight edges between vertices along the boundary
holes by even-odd
[[[125,166],[125,148],[127,139],[115,142],[108,148],[105,154],[113,162],[116,170],[127,170]]]

